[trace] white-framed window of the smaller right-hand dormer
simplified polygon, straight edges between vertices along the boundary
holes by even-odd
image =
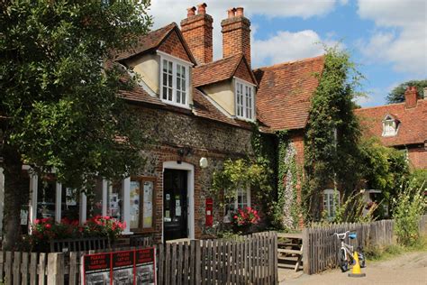
[[[255,88],[236,78],[236,116],[244,120],[255,120]]]

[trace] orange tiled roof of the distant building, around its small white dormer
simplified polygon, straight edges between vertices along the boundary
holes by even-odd
[[[418,99],[417,106],[405,108],[404,103],[360,108],[355,110],[362,131],[376,136],[386,146],[423,143],[427,140],[427,100]],[[392,115],[400,123],[395,136],[383,137],[383,120]]]

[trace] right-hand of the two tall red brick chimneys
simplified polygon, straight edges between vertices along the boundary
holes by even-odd
[[[223,57],[243,53],[250,64],[250,20],[245,18],[243,7],[227,10],[223,27]]]

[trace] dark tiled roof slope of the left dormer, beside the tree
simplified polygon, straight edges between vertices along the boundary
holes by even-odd
[[[150,51],[159,47],[161,41],[165,39],[170,31],[177,28],[177,23],[169,23],[167,26],[160,28],[159,30],[144,34],[138,39],[135,46],[127,51],[118,52],[114,60],[125,60],[132,56],[140,54],[145,51]]]

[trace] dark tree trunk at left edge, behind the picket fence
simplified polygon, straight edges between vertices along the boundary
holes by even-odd
[[[23,163],[16,150],[5,146],[5,207],[3,216],[3,250],[10,251],[21,240],[21,206],[23,198],[28,197],[23,183]],[[26,188],[28,190],[28,186]]]

